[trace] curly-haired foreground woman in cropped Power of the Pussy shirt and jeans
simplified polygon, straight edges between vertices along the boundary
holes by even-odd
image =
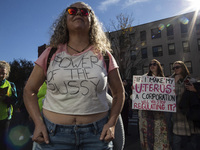
[[[83,2],[71,4],[54,25],[50,46],[35,62],[24,88],[24,103],[35,124],[32,139],[43,150],[112,149],[124,87],[109,40],[92,8]],[[46,71],[52,47],[57,50]],[[37,92],[45,79],[41,115]],[[111,110],[107,81],[113,96]]]

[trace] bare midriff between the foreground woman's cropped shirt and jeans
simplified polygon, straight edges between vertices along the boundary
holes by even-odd
[[[55,113],[43,109],[44,116],[51,122],[61,125],[82,125],[98,121],[108,115],[108,112],[102,112],[92,115],[66,115]]]

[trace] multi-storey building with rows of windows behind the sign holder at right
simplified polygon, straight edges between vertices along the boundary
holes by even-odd
[[[125,78],[132,79],[134,74],[146,73],[150,60],[155,58],[161,62],[166,76],[173,73],[173,62],[182,60],[191,76],[200,79],[200,12],[190,12],[132,28],[134,30],[128,31],[129,35],[123,38],[116,36],[120,31],[109,33],[112,46],[114,39],[118,38],[120,55],[124,57],[124,61],[118,63],[125,63],[130,58],[125,68],[131,71]],[[129,42],[124,44],[124,41]],[[116,51],[114,47],[113,51]],[[126,51],[129,51],[129,56],[125,55]]]

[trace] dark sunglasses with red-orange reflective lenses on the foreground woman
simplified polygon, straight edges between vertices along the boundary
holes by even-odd
[[[88,16],[91,12],[90,9],[87,9],[87,8],[76,8],[76,7],[68,7],[66,9],[66,11],[70,14],[70,15],[76,15],[78,10],[81,11],[81,15],[82,16]]]

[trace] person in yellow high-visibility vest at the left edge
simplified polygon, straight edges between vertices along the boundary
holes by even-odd
[[[6,150],[6,135],[13,113],[13,105],[17,103],[17,91],[14,83],[7,80],[10,65],[0,61],[0,148]]]

